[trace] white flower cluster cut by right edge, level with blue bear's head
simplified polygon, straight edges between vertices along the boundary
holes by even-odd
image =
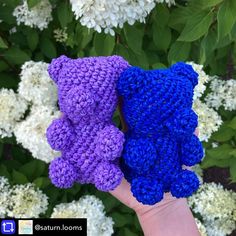
[[[225,110],[236,109],[236,80],[220,80],[215,77],[210,83],[211,92],[206,96],[208,106],[218,109],[223,106]]]

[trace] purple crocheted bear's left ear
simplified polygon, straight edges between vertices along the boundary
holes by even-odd
[[[55,58],[51,61],[51,63],[48,66],[48,73],[51,79],[57,83],[58,82],[58,76],[60,73],[60,70],[62,69],[62,66],[64,63],[68,62],[70,58],[62,55],[58,58]]]

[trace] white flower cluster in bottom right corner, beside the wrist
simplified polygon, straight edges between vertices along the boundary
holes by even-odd
[[[195,214],[200,214],[209,236],[225,236],[236,227],[236,193],[216,183],[204,183],[188,199]]]

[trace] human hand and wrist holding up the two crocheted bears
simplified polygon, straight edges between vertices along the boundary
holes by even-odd
[[[133,197],[125,179],[110,193],[136,212],[145,236],[200,236],[185,198],[165,193],[161,202],[143,205]]]

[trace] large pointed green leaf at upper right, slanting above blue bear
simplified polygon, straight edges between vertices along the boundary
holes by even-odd
[[[213,12],[201,11],[188,19],[178,41],[192,42],[202,37],[209,29]]]

